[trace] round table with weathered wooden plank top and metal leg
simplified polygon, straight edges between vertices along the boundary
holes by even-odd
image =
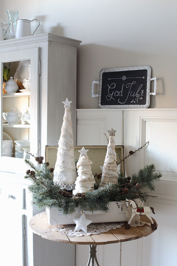
[[[141,220],[147,221],[149,223],[149,219],[145,217],[145,215],[141,217]],[[154,219],[153,221],[157,224]],[[65,234],[53,230],[53,228],[55,228],[56,226],[51,226],[48,224],[47,214],[45,212],[36,214],[33,218],[31,218],[31,220],[29,221],[29,226],[31,227],[33,233],[42,236],[42,238],[61,243],[89,245],[90,256],[87,266],[90,265],[90,262],[91,266],[94,266],[94,260],[99,266],[98,260],[96,258],[97,245],[106,245],[118,242],[120,242],[121,244],[121,242],[142,238],[154,232],[151,226],[148,225],[130,227],[129,230],[126,230],[125,226],[121,226],[121,228],[111,229],[108,232],[101,234],[69,237]]]

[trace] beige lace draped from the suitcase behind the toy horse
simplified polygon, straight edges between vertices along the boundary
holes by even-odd
[[[140,199],[134,199],[134,200],[136,201],[136,203],[137,203],[137,205],[139,207],[143,207],[143,203],[142,203],[142,201]],[[131,216],[132,216],[132,208],[127,208],[126,201],[121,201],[121,205],[122,205],[123,211],[125,212],[125,214],[127,216],[127,221],[129,221]],[[142,226],[144,224],[151,225],[151,223],[146,223],[146,222],[140,221],[140,215],[136,214],[133,217],[133,219],[132,219],[132,221],[130,223],[130,226],[136,227],[136,226]]]

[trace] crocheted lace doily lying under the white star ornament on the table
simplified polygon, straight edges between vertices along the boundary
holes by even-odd
[[[121,225],[124,225],[124,222],[117,223],[90,223],[87,226],[87,233],[84,231],[74,231],[75,225],[65,225],[64,228],[61,226],[53,228],[54,231],[60,232],[68,236],[87,236],[90,234],[100,234],[108,232],[111,229],[121,228]]]

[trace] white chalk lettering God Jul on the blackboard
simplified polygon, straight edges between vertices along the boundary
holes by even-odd
[[[136,97],[136,99],[132,100],[132,102],[138,102],[138,98],[142,100],[141,96],[143,96],[143,90],[141,90],[142,85],[143,84],[141,84],[138,87],[138,89],[136,89],[136,81],[133,81],[132,83],[123,84],[121,90],[118,91],[118,90],[115,90],[116,89],[115,83],[111,83],[111,85],[108,84],[108,95],[106,96],[106,99],[110,101],[111,99],[116,100],[115,97],[119,97],[118,102],[123,104],[127,102],[127,99],[130,95],[131,97]],[[139,93],[140,90],[141,90],[141,93]]]

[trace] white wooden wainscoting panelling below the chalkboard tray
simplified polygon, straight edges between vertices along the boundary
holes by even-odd
[[[100,266],[177,265],[177,109],[78,109],[77,145],[106,145],[103,133],[113,127],[116,144],[124,144],[125,156],[149,140],[149,144],[125,160],[127,176],[154,163],[163,174],[147,205],[153,206],[158,229],[146,238],[97,247]],[[89,247],[76,247],[76,266],[86,265]]]

